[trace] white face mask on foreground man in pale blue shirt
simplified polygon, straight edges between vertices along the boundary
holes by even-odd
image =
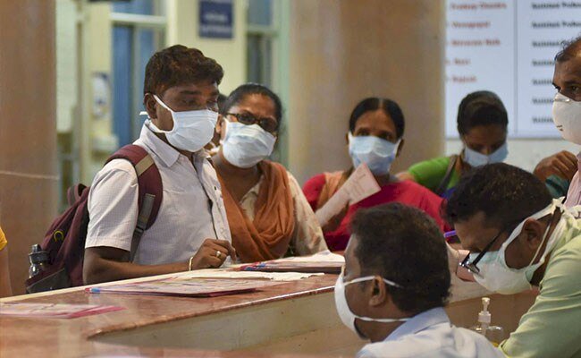
[[[375,278],[375,276],[358,277],[358,278],[352,279],[348,282],[344,282],[343,281],[343,274],[341,273],[341,275],[339,277],[337,277],[337,283],[335,284],[334,294],[335,294],[335,307],[337,308],[337,313],[339,313],[339,317],[341,318],[341,321],[343,322],[343,324],[345,326],[347,326],[347,328],[349,328],[350,330],[355,332],[358,335],[358,337],[360,337],[362,339],[364,339],[365,337],[362,337],[361,333],[355,327],[355,319],[366,320],[368,322],[381,322],[381,323],[392,323],[392,322],[401,322],[401,321],[409,320],[408,318],[406,318],[406,319],[372,319],[369,317],[358,316],[349,309],[349,303],[347,302],[347,296],[345,295],[345,286],[349,286],[351,284],[355,284],[358,282],[371,281],[374,278]],[[385,282],[389,286],[401,287],[400,285],[398,285],[395,282],[392,282],[388,279],[385,279],[385,278],[382,278],[382,279],[383,279],[383,282]]]

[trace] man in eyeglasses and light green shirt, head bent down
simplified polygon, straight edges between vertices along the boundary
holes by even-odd
[[[509,357],[581,356],[581,221],[535,175],[493,164],[464,176],[446,206],[462,246],[460,262],[500,294],[540,294],[501,343]]]

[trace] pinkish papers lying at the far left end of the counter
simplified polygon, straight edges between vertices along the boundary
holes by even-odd
[[[0,316],[74,319],[122,309],[122,307],[97,304],[0,303]]]

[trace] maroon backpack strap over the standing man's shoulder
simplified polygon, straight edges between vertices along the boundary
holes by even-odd
[[[107,159],[107,163],[114,159],[125,159],[135,168],[139,186],[139,215],[137,226],[131,240],[131,261],[137,252],[139,241],[143,233],[156,221],[164,195],[162,177],[159,169],[146,149],[136,144],[128,144],[117,150]]]

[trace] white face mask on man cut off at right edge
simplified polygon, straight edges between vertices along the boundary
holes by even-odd
[[[581,145],[581,101],[557,93],[552,102],[552,121],[565,141]]]

